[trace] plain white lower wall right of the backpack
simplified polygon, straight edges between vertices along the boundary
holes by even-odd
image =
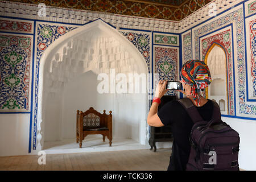
[[[256,170],[256,122],[247,119],[222,117],[240,135],[240,151],[238,162],[240,168]]]

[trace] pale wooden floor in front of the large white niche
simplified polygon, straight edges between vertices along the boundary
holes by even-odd
[[[171,149],[48,154],[46,165],[38,155],[0,157],[0,170],[110,170],[166,171]]]

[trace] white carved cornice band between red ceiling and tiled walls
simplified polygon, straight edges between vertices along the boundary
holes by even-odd
[[[213,0],[219,14],[243,0]],[[0,15],[31,20],[85,24],[96,19],[102,19],[118,28],[130,28],[147,31],[172,32],[179,34],[196,26],[208,18],[210,7],[204,6],[181,21],[144,18],[138,16],[110,14],[98,11],[67,9],[63,7],[46,6],[46,16],[38,16],[38,6],[28,3],[0,1]]]

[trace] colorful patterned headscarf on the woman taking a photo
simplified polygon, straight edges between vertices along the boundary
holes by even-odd
[[[183,64],[180,76],[186,84],[192,86],[193,100],[195,100],[197,106],[200,106],[201,91],[209,86],[212,81],[207,64],[200,60],[189,60]]]

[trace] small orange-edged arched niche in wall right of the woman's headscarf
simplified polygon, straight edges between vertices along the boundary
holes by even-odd
[[[228,86],[226,69],[226,52],[218,43],[213,43],[205,55],[205,63],[208,65],[212,82],[205,89],[205,96],[220,103],[221,114],[228,114]]]

